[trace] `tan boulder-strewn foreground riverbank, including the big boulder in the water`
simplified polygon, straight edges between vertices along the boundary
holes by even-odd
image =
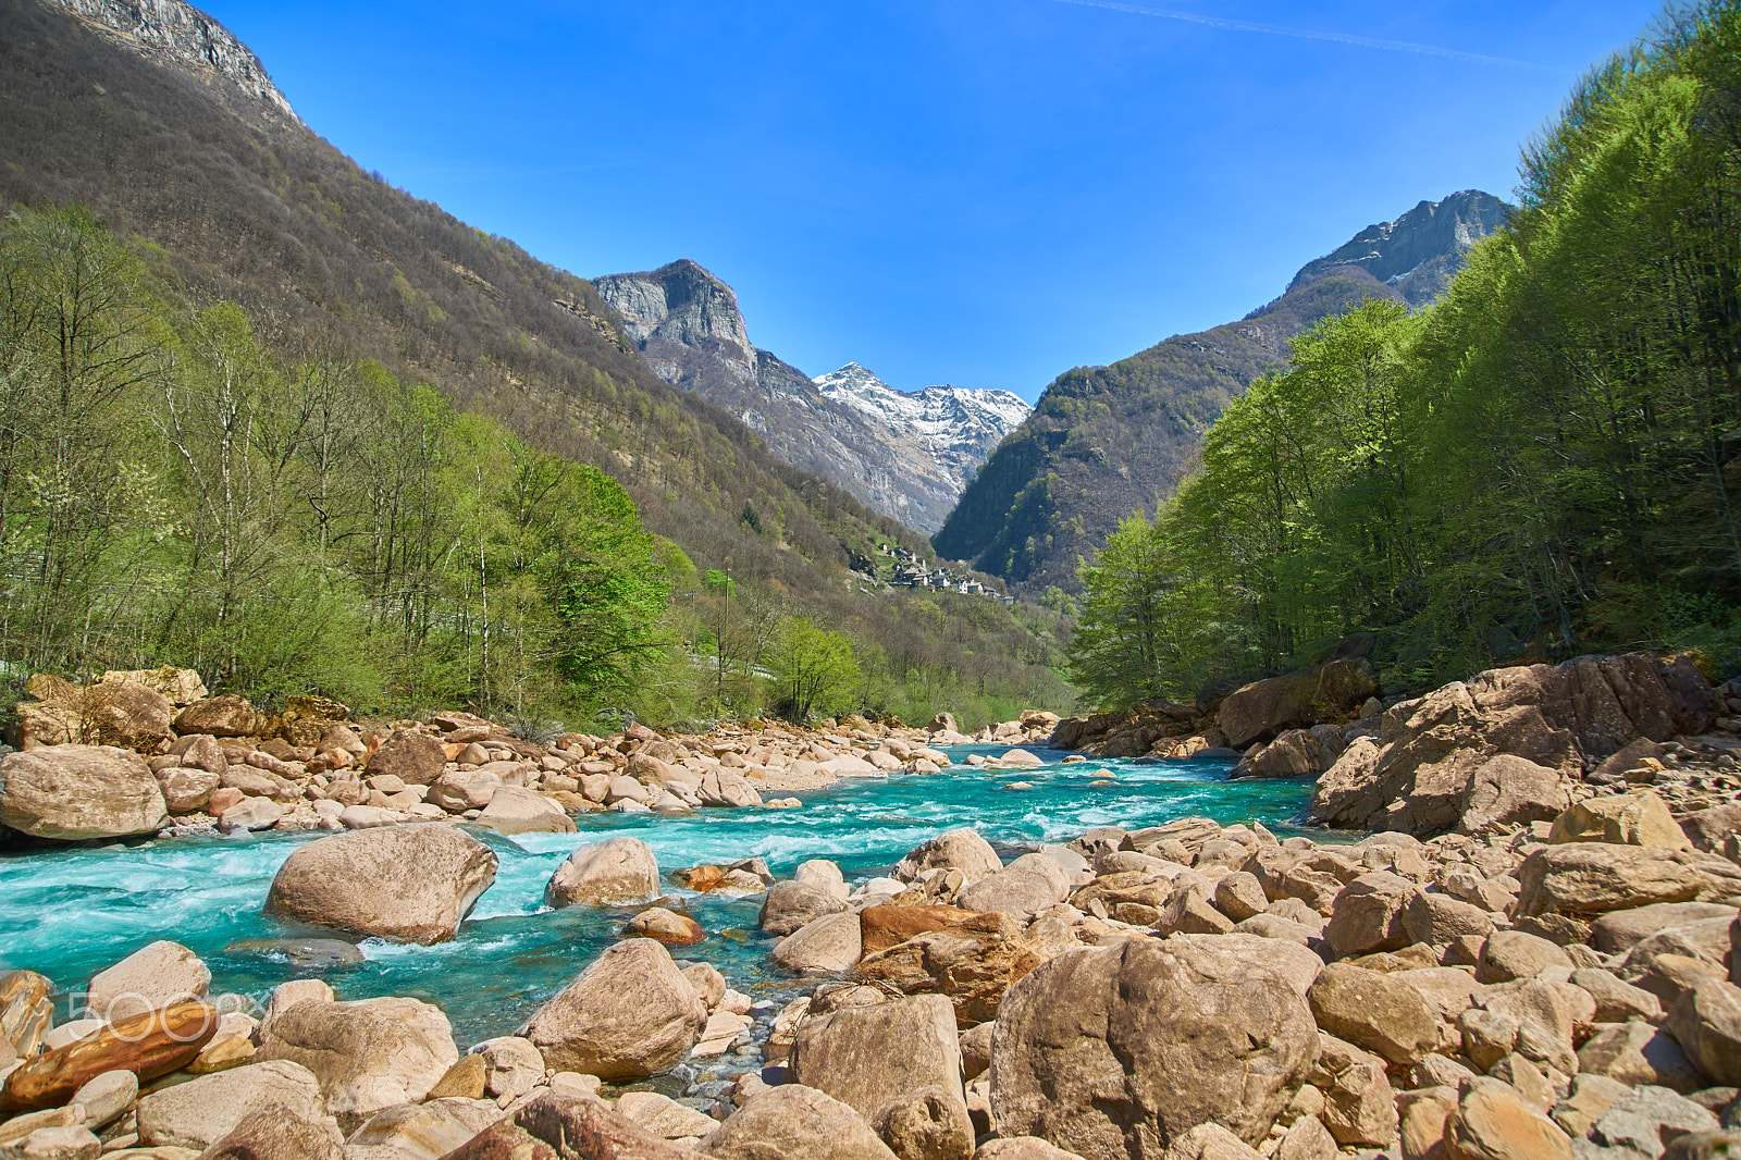
[[[0,977],[0,1150],[30,1160],[1447,1160],[1741,1148],[1741,867],[1645,787],[1511,833],[1356,845],[1186,819],[1003,864],[973,831],[848,885],[830,862],[684,867],[761,894],[808,995],[754,1002],[669,946],[634,838],[552,906],[623,939],[515,1035],[310,979],[225,1014],[169,942],[89,984]],[[1725,843],[1731,853],[1732,843]],[[493,853],[404,826],[301,846],[268,909],[451,937]],[[649,904],[651,902],[651,904]],[[662,904],[663,902],[663,904]],[[676,907],[676,909],[674,909]],[[677,951],[684,954],[686,951]],[[656,1090],[655,1090],[656,1089]]]

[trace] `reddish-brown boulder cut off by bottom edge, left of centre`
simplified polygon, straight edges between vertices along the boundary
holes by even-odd
[[[491,1123],[447,1160],[705,1160],[588,1096],[540,1096]]]

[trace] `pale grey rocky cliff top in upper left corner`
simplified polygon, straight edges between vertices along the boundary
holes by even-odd
[[[301,124],[266,66],[228,28],[183,0],[47,0],[85,24],[207,84],[233,84],[263,111]]]

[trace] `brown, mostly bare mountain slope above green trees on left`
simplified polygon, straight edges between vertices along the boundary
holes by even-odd
[[[655,374],[590,282],[393,188],[289,108],[245,45],[178,0],[0,3],[0,212],[84,206],[165,301],[233,301],[292,362],[376,359],[599,467],[696,568],[851,625],[891,665],[966,672],[970,658],[975,683],[1055,685],[1017,660],[1057,660],[1018,606],[977,601],[958,618],[949,604],[937,627],[904,617],[900,592],[862,590],[851,570],[879,545],[930,545]]]

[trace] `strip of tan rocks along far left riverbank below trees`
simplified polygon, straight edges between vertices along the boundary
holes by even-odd
[[[322,697],[291,697],[268,714],[242,697],[207,697],[195,672],[178,669],[108,672],[89,686],[35,678],[30,688],[35,700],[16,711],[17,752],[0,761],[0,826],[59,841],[432,820],[573,833],[573,815],[595,810],[792,808],[792,794],[843,777],[935,773],[949,766],[935,745],[970,740],[940,714],[923,730],[848,718],[677,737],[630,725],[538,742],[468,712],[355,723]],[[998,732],[1025,742],[1055,721],[1027,714]]]

